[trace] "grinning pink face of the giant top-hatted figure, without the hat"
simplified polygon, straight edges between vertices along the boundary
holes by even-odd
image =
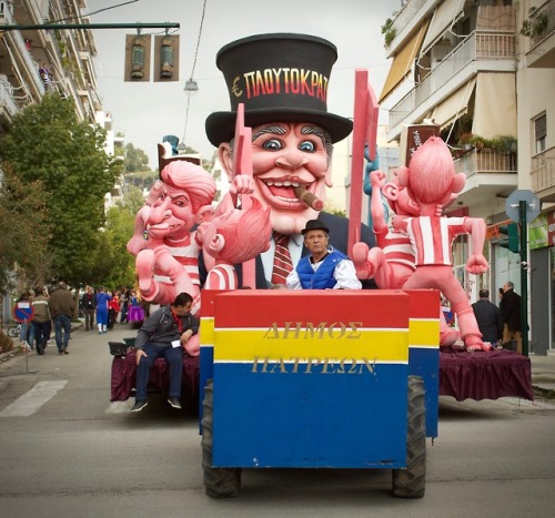
[[[320,200],[331,182],[330,136],[312,123],[275,122],[252,129],[254,196],[270,207],[272,228],[282,234],[300,234],[317,211],[295,196],[302,186]],[[232,149],[220,145],[220,160],[233,176]]]

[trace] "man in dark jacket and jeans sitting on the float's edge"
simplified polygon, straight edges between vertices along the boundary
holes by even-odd
[[[169,306],[162,306],[144,322],[135,338],[137,396],[132,412],[147,406],[147,386],[150,369],[158,357],[168,362],[170,390],[168,403],[181,408],[181,376],[183,373],[183,346],[199,333],[199,321],[191,315],[193,297],[180,293]]]

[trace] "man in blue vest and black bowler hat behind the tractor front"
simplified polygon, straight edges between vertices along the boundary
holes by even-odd
[[[287,275],[290,290],[361,290],[352,261],[330,246],[330,230],[320,220],[310,220],[302,230],[309,250]]]

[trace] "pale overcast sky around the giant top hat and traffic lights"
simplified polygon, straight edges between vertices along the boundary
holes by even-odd
[[[124,0],[88,0],[89,12],[118,6]],[[337,47],[329,90],[327,110],[342,116],[353,114],[355,69],[369,70],[369,80],[380,97],[390,68],[385,58],[381,26],[398,10],[380,0],[206,0],[196,63],[204,0],[139,0],[90,16],[91,23],[176,22],[180,29],[180,80],[176,82],[131,83],[123,81],[125,34],[132,30],[94,31],[99,93],[113,129],[125,142],[141,148],[158,166],[157,143],[165,134],[180,140],[210,159],[214,148],[204,133],[204,121],[212,111],[228,111],[229,95],[222,73],[215,65],[218,51],[231,41],[266,32],[302,32],[330,40]],[[143,33],[162,33],[155,29]],[[191,98],[189,116],[185,81],[193,75],[199,92]],[[381,110],[380,123],[387,123]]]

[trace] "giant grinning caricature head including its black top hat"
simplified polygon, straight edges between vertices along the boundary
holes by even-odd
[[[306,34],[259,34],[220,50],[216,64],[230,93],[231,111],[206,119],[206,135],[233,176],[238,105],[252,128],[254,195],[270,209],[272,227],[301,233],[317,211],[295,195],[304,187],[320,200],[332,186],[332,143],[351,133],[352,122],[327,112],[327,88],[336,48]]]

